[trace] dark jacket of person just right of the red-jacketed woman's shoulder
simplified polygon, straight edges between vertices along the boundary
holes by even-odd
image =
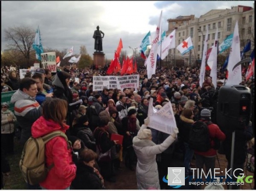
[[[81,126],[81,128],[78,128],[78,133],[76,135],[77,138],[80,138],[83,142],[84,145],[96,152],[96,142],[95,138],[93,137],[93,132],[90,130],[89,126]]]

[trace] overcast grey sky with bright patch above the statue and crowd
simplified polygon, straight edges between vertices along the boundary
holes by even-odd
[[[90,56],[94,52],[93,32],[97,26],[105,33],[103,52],[112,59],[119,39],[123,50],[137,48],[148,31],[155,32],[160,12],[163,11],[163,30],[167,19],[180,15],[197,18],[212,9],[231,6],[253,7],[254,1],[2,1],[1,50],[6,49],[3,30],[14,26],[39,26],[44,48],[63,50],[74,46],[79,54],[85,45]]]

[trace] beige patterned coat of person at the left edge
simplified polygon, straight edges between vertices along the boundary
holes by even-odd
[[[9,122],[8,118],[11,116],[13,122]],[[16,117],[9,109],[5,112],[1,111],[1,134],[10,134],[14,132],[14,124],[16,122]]]

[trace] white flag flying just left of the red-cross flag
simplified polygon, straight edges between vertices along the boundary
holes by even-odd
[[[167,57],[169,53],[169,49],[175,48],[175,33],[176,33],[176,30],[172,31],[170,35],[168,35],[166,39],[164,39],[164,41],[162,42],[161,54],[160,54],[160,49],[158,48],[158,56],[161,55],[162,60],[164,60],[164,58]]]

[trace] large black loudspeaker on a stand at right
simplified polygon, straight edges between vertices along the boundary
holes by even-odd
[[[245,86],[225,85],[218,92],[217,124],[221,130],[236,130],[249,124],[251,93]]]

